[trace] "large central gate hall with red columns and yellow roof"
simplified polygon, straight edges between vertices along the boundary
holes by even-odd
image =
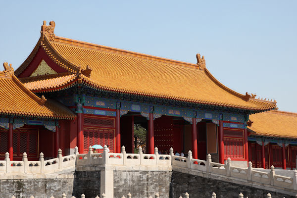
[[[58,37],[54,27],[44,21],[38,43],[14,74],[37,96],[67,106],[71,119],[58,120],[58,133],[51,132],[56,138],[40,132],[49,134],[46,140],[27,145],[43,151],[41,141],[54,142],[48,156],[54,148],[69,154],[75,146],[86,152],[94,144],[109,145],[112,152],[125,145],[133,152],[133,126],[141,124],[149,153],[154,147],[191,149],[194,158],[210,153],[221,163],[230,157],[247,165],[249,115],[274,109],[276,102],[225,87],[200,54],[197,64],[181,62]]]

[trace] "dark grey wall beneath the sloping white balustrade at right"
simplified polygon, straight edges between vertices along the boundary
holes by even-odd
[[[272,198],[295,198],[273,192],[272,190],[262,190],[227,181],[172,171],[170,198],[178,198],[180,195],[183,196],[185,192],[189,193],[190,198],[211,198],[212,192],[216,193],[217,198],[238,198],[241,192],[245,197],[249,198],[266,198],[268,193],[272,195]]]

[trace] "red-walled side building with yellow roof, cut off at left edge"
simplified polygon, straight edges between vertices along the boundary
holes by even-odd
[[[44,96],[37,97],[16,78],[13,68],[3,64],[0,72],[0,158],[8,151],[10,159],[38,158],[56,154],[59,134],[67,120],[75,119],[70,109]]]

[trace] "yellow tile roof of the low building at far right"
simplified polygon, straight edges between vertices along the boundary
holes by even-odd
[[[297,138],[297,113],[270,110],[251,114],[253,123],[247,128],[251,135],[280,138]]]

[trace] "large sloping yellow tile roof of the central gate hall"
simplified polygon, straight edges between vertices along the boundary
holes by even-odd
[[[273,102],[248,99],[249,96],[232,91],[198,64],[57,37],[53,34],[54,23],[49,26],[44,23],[42,30],[48,27],[52,33],[42,31],[36,48],[45,49],[53,61],[69,72],[78,72],[81,67],[84,74],[87,66],[90,67],[90,77],[81,75],[81,79],[98,89],[256,111],[275,107]],[[16,70],[16,75],[26,68],[30,59],[29,56]],[[60,80],[56,85],[49,84],[58,87],[63,84]],[[45,81],[45,87],[39,86],[39,89],[48,89],[47,83]],[[35,85],[32,81],[26,84],[31,90]]]

